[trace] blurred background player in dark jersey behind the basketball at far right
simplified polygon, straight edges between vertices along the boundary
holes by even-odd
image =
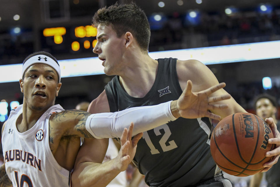
[[[256,115],[261,117],[263,120],[265,118],[272,117],[276,123],[278,131],[280,130],[280,121],[276,120],[277,113],[277,102],[276,98],[269,94],[260,94],[255,98],[255,110]],[[280,186],[280,162],[277,162],[265,173],[265,179],[267,181],[267,187]],[[250,187],[259,187],[262,180],[262,173],[257,173],[253,175],[250,181]]]

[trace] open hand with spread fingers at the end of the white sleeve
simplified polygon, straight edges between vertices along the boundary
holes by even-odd
[[[199,92],[192,92],[192,82],[188,80],[187,86],[177,101],[177,116],[189,119],[198,117],[210,117],[215,120],[220,120],[219,115],[209,112],[209,110],[223,110],[227,108],[227,104],[217,104],[217,101],[223,101],[229,99],[230,94],[210,96],[211,93],[225,87],[225,83],[220,83],[215,86],[211,86],[206,90]],[[172,111],[172,107],[171,107]],[[172,112],[173,113],[173,112]]]

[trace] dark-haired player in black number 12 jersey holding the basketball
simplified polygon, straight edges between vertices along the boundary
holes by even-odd
[[[218,84],[209,68],[197,60],[150,58],[149,23],[145,13],[133,3],[99,9],[93,25],[97,28],[93,52],[103,61],[106,75],[117,76],[91,102],[88,112],[115,112],[174,100],[188,80],[192,81],[193,91]],[[226,93],[220,89],[211,95]],[[222,118],[246,112],[233,98],[218,103],[229,105],[225,110],[211,110]],[[275,130],[274,123],[269,123]],[[138,142],[134,164],[153,187],[232,186],[211,157],[211,129],[209,118],[202,117],[179,118],[146,131]],[[277,143],[277,148],[268,153],[275,157],[265,165],[264,171],[277,162],[280,153],[279,135],[271,140],[270,143]]]

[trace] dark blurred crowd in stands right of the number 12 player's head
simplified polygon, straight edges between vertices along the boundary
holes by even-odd
[[[195,23],[174,13],[151,33],[150,51],[280,40],[280,11],[225,15],[201,13]]]

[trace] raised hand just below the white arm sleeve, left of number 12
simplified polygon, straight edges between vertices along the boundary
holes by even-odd
[[[125,171],[127,166],[135,156],[137,143],[142,138],[143,132],[135,135],[132,138],[132,131],[133,131],[134,124],[131,123],[127,128],[125,128],[122,132],[122,136],[120,137],[121,147],[118,156],[116,157],[115,161],[117,162],[116,165],[120,171]]]

